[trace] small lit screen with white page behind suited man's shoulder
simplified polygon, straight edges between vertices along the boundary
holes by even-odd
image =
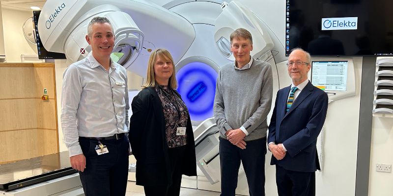
[[[324,91],[346,91],[348,61],[312,61],[311,84]]]

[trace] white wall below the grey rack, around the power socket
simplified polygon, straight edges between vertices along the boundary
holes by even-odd
[[[393,173],[375,171],[377,163],[393,164],[392,150],[393,119],[373,117],[368,185],[369,196],[393,196]]]

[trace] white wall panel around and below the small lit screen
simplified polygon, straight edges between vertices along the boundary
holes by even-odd
[[[355,196],[362,57],[350,59],[353,59],[356,82],[347,86],[355,85],[357,92],[353,97],[329,103],[325,121],[323,168],[322,172],[315,174],[317,196]],[[317,149],[320,151],[319,145]]]

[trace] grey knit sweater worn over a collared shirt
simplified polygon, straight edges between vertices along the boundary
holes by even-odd
[[[272,67],[264,61],[253,60],[248,70],[235,70],[233,63],[221,68],[214,99],[214,118],[224,139],[225,132],[246,128],[245,141],[267,135],[267,114],[272,105]]]

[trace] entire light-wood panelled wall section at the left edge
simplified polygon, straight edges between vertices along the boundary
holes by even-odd
[[[58,152],[54,70],[53,63],[0,63],[0,164]]]

